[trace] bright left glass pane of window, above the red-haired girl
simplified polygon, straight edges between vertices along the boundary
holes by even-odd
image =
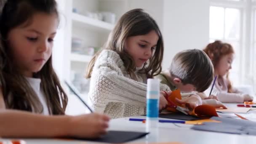
[[[210,7],[210,42],[221,40],[230,43],[235,50],[235,59],[230,70],[232,82],[237,84],[240,75],[241,11],[237,8]]]

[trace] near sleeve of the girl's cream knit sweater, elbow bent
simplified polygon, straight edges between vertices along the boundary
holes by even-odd
[[[104,112],[109,102],[121,102],[146,107],[147,85],[123,75],[120,56],[104,50],[99,55],[91,75],[89,98],[97,112]],[[161,86],[162,89],[167,89]]]

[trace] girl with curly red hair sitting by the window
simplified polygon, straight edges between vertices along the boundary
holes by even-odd
[[[216,40],[214,43],[208,44],[203,51],[210,57],[214,66],[214,73],[218,76],[212,94],[217,96],[221,102],[242,103],[244,101],[252,101],[252,96],[241,93],[232,87],[229,81],[228,72],[231,69],[235,53],[232,45]],[[211,88],[208,88],[206,93],[210,91]]]

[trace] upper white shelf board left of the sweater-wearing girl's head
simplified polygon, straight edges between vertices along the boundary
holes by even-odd
[[[114,24],[109,24],[78,13],[72,13],[72,21],[75,27],[90,29],[97,32],[110,32],[114,28]]]

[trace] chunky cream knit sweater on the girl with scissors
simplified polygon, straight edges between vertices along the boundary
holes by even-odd
[[[144,115],[147,77],[138,70],[137,80],[133,80],[120,56],[115,51],[103,50],[94,64],[88,93],[94,110],[112,118]],[[167,85],[160,85],[160,90],[170,91]]]

